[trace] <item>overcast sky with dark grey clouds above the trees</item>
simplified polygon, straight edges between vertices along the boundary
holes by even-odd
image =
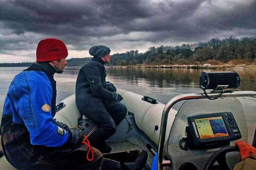
[[[256,0],[0,0],[0,63],[35,62],[41,39],[61,39],[68,58],[256,36]]]

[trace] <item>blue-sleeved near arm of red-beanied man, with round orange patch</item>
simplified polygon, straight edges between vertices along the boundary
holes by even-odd
[[[31,144],[63,145],[68,132],[53,123],[50,81],[45,73],[36,71],[24,72],[24,78],[26,82],[21,82],[20,116],[30,132]]]

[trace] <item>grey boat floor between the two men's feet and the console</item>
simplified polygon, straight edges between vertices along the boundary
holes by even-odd
[[[142,150],[148,152],[148,160],[143,170],[151,169],[152,160],[154,154],[149,151],[146,143],[138,136],[134,136],[122,141],[110,141],[106,142],[111,148],[110,153],[103,153],[104,158],[110,158],[116,161],[133,162],[140,154]]]

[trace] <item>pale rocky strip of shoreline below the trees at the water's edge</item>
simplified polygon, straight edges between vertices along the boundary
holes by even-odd
[[[151,66],[151,65],[136,65],[136,66],[106,66],[106,67],[145,67],[145,68],[206,68],[206,69],[256,69],[256,65],[211,65],[211,64],[203,64],[203,65],[159,65],[159,66]]]

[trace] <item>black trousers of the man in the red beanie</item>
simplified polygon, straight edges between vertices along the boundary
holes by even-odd
[[[17,169],[89,169],[119,170],[120,162],[103,158],[100,151],[93,149],[94,159],[86,158],[88,147],[77,146],[47,147],[32,145],[25,125],[15,124],[12,117],[2,117],[1,142],[8,162]],[[89,154],[89,158],[91,158]]]

